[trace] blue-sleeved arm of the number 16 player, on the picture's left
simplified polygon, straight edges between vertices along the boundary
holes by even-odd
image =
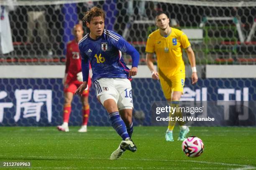
[[[79,50],[82,58],[81,65],[82,65],[83,83],[78,87],[78,89],[74,94],[82,96],[82,92],[86,89],[88,84],[90,66],[89,66],[89,57],[82,52],[82,49],[80,49],[80,46],[79,46]]]

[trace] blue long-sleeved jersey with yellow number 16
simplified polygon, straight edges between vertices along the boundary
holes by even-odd
[[[130,54],[133,58],[133,67],[138,67],[138,51],[122,36],[110,30],[104,29],[97,40],[90,38],[88,33],[79,41],[79,50],[82,62],[89,63],[90,61],[93,81],[103,77],[130,79],[131,77],[128,77],[130,69],[123,61],[122,52]],[[86,81],[87,77],[83,79]]]

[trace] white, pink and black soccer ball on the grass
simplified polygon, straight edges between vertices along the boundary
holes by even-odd
[[[204,151],[204,144],[200,138],[189,136],[182,142],[182,150],[188,157],[195,158],[202,154]]]

